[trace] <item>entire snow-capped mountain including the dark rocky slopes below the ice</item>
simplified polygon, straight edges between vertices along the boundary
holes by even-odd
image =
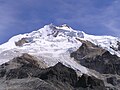
[[[0,45],[0,90],[119,90],[119,78],[118,37],[50,24]]]

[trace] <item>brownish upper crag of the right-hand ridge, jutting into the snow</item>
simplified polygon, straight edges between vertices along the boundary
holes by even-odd
[[[81,47],[77,51],[71,53],[71,57],[74,57],[76,60],[83,58],[94,58],[97,55],[102,55],[106,51],[89,41],[78,40],[82,42]]]

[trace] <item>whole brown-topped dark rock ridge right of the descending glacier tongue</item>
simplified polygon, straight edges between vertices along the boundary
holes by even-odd
[[[74,57],[81,65],[99,72],[103,80],[112,84],[113,87],[119,86],[120,58],[118,56],[110,54],[89,41],[82,41],[82,46],[71,53],[71,57]]]

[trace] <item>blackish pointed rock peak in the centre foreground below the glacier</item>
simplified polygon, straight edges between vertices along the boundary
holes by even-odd
[[[55,66],[41,70],[41,73],[36,73],[35,77],[39,77],[42,80],[61,81],[75,86],[77,81],[76,72],[64,66],[62,63],[57,63]]]

